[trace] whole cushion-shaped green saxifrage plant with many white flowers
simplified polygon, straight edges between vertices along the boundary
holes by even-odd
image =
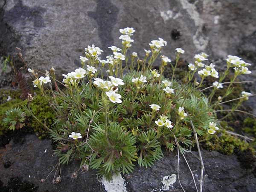
[[[54,127],[47,127],[34,117],[57,143],[55,154],[60,163],[80,160],[81,167],[97,169],[108,179],[113,173],[132,172],[136,162],[152,166],[163,157],[163,148],[169,151],[178,148],[184,153],[185,148],[198,143],[197,134],[207,140],[219,129],[216,113],[225,111],[219,107],[233,92],[232,85],[239,83],[235,81],[237,76],[251,73],[247,68],[250,64],[228,55],[227,69],[219,75],[214,64],[207,65],[208,55],[201,53],[188,65],[188,81],[183,84],[174,78],[183,49],[176,49],[174,63],[164,55],[158,61],[161,49],[167,44],[159,38],[151,41],[151,50],[145,50],[143,58],[139,58],[136,52],[128,52],[135,30],[125,28],[120,32],[122,48],[109,47],[113,55],[103,60],[99,57],[103,52],[99,47],[88,46],[85,55],[80,56],[81,67],[63,74],[62,82],[55,78],[54,68],[45,76],[28,69],[35,77],[34,86],[55,110]],[[152,67],[155,61],[160,62],[159,70]],[[172,67],[171,79],[163,77],[167,65]],[[235,70],[233,78],[222,82],[231,68]],[[201,77],[200,82],[193,81],[196,74]],[[218,81],[203,88],[207,76]],[[213,100],[215,91],[225,84],[227,92]],[[207,89],[212,89],[209,96],[204,95]],[[228,111],[237,111],[249,96],[253,95],[242,92],[235,99],[239,103]],[[31,100],[32,96],[29,97]],[[33,115],[30,104],[26,110]]]

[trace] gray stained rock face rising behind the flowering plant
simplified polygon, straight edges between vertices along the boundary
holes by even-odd
[[[182,47],[188,61],[200,51],[212,60],[228,54],[251,59],[255,8],[254,0],[1,0],[0,44],[6,53],[23,49],[30,67],[53,65],[60,74],[79,65],[88,44],[110,53],[107,47],[120,45],[119,28],[126,26],[136,29],[132,49],[140,55],[162,37],[168,41],[163,54],[172,58]]]

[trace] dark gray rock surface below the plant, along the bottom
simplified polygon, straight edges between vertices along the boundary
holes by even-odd
[[[45,151],[47,149],[47,151]],[[250,169],[241,167],[237,157],[227,156],[218,152],[202,151],[205,165],[204,192],[254,192],[256,177]],[[197,152],[193,152],[197,155]],[[50,140],[39,140],[35,135],[27,135],[23,145],[10,142],[5,148],[0,148],[0,180],[3,186],[10,182],[11,177],[19,177],[26,183],[33,183],[38,192],[104,192],[104,186],[99,182],[94,170],[77,172],[76,178],[72,173],[79,169],[79,162],[61,166],[61,183],[53,184],[55,170],[47,177],[52,168],[58,163],[57,157],[52,157],[53,150]],[[186,159],[198,184],[201,166],[199,160],[192,154],[186,154]],[[5,168],[5,162],[11,166]],[[183,157],[180,157],[180,182],[187,192],[195,192],[189,169]],[[56,173],[58,176],[59,172]],[[175,183],[169,192],[181,192],[177,180],[177,153],[166,153],[152,168],[137,168],[131,175],[124,175],[127,192],[160,192],[163,191],[164,176],[176,175]],[[17,179],[17,178],[16,178]],[[12,178],[13,180],[13,178]],[[0,183],[1,183],[0,182]],[[38,187],[38,188],[37,188]],[[1,189],[1,186],[0,186]]]

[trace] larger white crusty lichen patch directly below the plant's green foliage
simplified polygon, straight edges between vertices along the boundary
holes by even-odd
[[[113,175],[111,181],[108,181],[103,177],[101,182],[107,192],[127,192],[125,180],[120,173],[118,175]]]

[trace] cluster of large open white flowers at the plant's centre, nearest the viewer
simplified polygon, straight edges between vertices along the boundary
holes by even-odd
[[[105,91],[106,95],[108,96],[109,100],[113,103],[122,103],[122,96],[118,93],[118,86],[119,85],[124,85],[125,83],[123,82],[122,79],[115,78],[113,76],[108,77],[111,81],[104,81],[103,79],[100,78],[94,78],[93,84],[95,87],[98,87]],[[116,86],[116,87],[115,87]]]

